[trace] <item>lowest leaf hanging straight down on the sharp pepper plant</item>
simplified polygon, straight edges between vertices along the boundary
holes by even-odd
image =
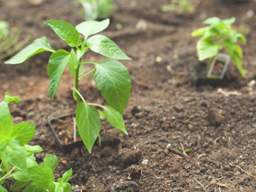
[[[76,125],[85,147],[91,153],[101,128],[99,112],[87,103],[81,103],[76,108]]]

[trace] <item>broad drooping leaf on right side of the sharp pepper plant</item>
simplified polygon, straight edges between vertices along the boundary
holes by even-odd
[[[96,64],[93,78],[108,104],[122,114],[131,93],[130,74],[125,66],[107,59]]]

